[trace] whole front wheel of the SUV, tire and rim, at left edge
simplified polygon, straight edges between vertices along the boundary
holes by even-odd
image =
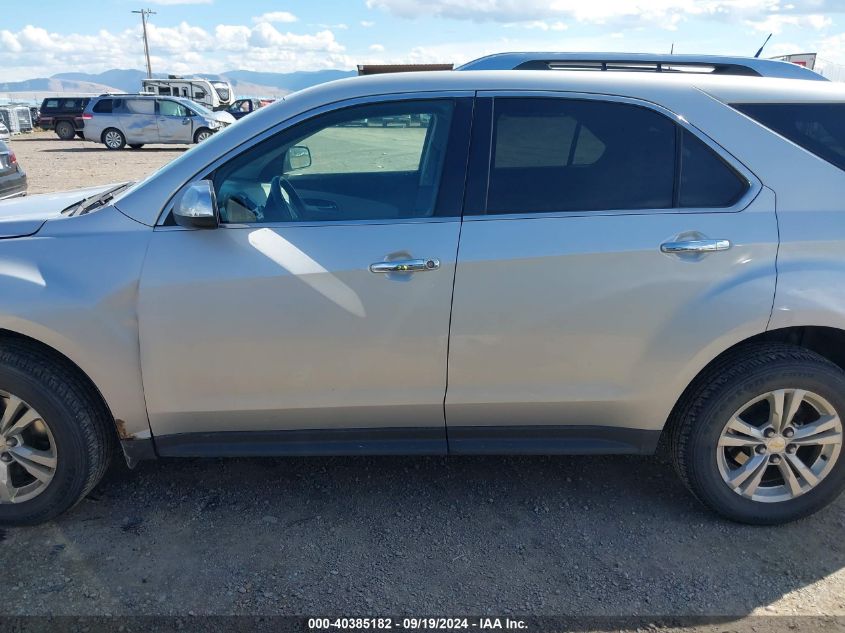
[[[97,484],[114,447],[109,414],[66,360],[0,345],[0,525],[47,521]]]

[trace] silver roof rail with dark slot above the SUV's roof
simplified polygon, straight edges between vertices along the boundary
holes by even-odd
[[[497,53],[455,70],[598,70],[701,73],[827,81],[803,66],[757,57],[654,55],[650,53]]]

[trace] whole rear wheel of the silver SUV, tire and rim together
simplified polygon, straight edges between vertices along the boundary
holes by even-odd
[[[779,407],[770,404],[778,397]],[[799,408],[790,415],[794,403]],[[783,435],[774,431],[777,423],[771,422],[771,412],[778,409],[784,411],[785,423],[780,428]],[[806,437],[799,438],[809,434],[808,425],[813,421],[822,422],[822,410],[830,414],[826,420],[838,417],[838,430],[833,428],[812,438],[838,434],[838,439],[818,440],[824,445],[812,449],[795,444],[783,446],[789,438],[807,442]],[[737,419],[739,422],[734,422]],[[681,480],[704,505],[732,521],[778,525],[817,512],[845,488],[843,419],[842,369],[802,347],[749,344],[718,360],[687,390],[669,420],[669,449]],[[734,429],[734,425],[744,422],[754,428]],[[763,434],[758,436],[756,429]],[[766,438],[766,432],[772,437]],[[812,438],[810,441],[816,441]],[[720,446],[720,442],[726,445]],[[740,448],[738,444],[747,446]],[[792,464],[798,459],[806,467],[805,462],[814,459],[814,452],[807,453],[811,450],[820,451],[812,466],[818,466],[820,472],[816,474],[820,476],[816,478],[811,469],[805,479]],[[752,460],[761,460],[760,466],[752,468]],[[738,485],[728,483],[738,482],[743,476],[747,479]],[[813,483],[811,479],[817,481]],[[790,482],[798,488],[791,487]]]

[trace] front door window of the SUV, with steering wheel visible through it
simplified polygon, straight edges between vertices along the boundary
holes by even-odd
[[[432,216],[454,105],[439,100],[360,106],[285,130],[215,174],[221,219],[251,223]],[[381,125],[388,117],[403,124]]]

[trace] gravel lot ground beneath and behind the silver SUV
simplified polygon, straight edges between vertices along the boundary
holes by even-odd
[[[12,146],[32,193],[183,151]],[[845,498],[782,528],[721,521],[660,459],[118,463],[60,520],[0,534],[0,613],[845,615],[843,528]]]

